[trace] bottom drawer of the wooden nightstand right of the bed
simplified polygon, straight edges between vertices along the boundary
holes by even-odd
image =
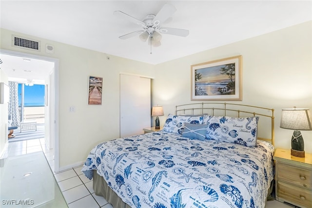
[[[277,196],[287,201],[294,202],[300,207],[312,207],[312,191],[308,189],[301,189],[287,183],[277,181],[278,192]]]

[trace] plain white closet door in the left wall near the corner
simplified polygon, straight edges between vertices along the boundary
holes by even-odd
[[[151,79],[120,74],[120,137],[151,126]]]

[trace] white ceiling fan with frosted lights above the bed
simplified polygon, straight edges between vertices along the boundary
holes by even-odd
[[[160,27],[160,24],[162,24],[167,19],[169,19],[175,12],[176,12],[176,7],[167,3],[160,9],[160,11],[156,15],[148,14],[145,17],[145,19],[141,21],[124,12],[114,11],[114,15],[127,19],[142,27],[142,29],[140,30],[137,30],[132,33],[128,33],[123,36],[119,36],[119,38],[127,39],[127,38],[131,38],[131,37],[139,35],[139,38],[143,42],[149,39],[148,43],[151,46],[151,54],[152,54],[152,46],[157,47],[161,45],[160,40],[162,37],[160,33],[174,35],[174,36],[181,36],[181,37],[187,37],[189,35],[189,31],[185,29],[178,29],[178,28],[172,28],[172,27]]]

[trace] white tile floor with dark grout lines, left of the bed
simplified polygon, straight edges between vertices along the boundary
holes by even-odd
[[[8,156],[17,156],[35,151],[43,151],[52,170],[54,170],[53,150],[49,150],[43,138],[20,142],[10,142]],[[107,201],[94,193],[92,180],[80,171],[82,166],[54,173],[59,188],[69,208],[113,208]],[[278,201],[267,202],[265,208],[292,208]]]

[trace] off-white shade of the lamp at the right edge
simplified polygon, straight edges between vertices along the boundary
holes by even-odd
[[[292,130],[312,130],[312,117],[309,109],[282,109],[280,128]]]

